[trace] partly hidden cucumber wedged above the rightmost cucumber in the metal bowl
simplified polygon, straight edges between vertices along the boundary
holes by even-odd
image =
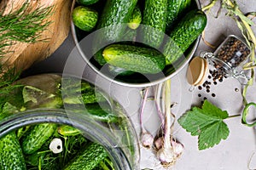
[[[174,25],[175,21],[181,17],[189,8],[191,0],[172,0],[168,1],[166,30],[169,31]]]

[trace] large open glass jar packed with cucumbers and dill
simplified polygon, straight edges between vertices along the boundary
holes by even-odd
[[[3,141],[4,138],[7,138],[9,134],[15,133],[15,137],[20,142],[24,159],[34,156],[33,154],[35,153],[44,153],[43,158],[39,156],[38,159],[44,159],[45,161],[49,159],[47,153],[52,155],[52,152],[54,152],[54,150],[50,151],[50,144],[54,144],[55,139],[61,139],[61,142],[63,142],[62,145],[57,142],[58,147],[56,149],[61,149],[62,152],[55,153],[55,156],[65,157],[73,151],[68,150],[69,148],[67,147],[77,144],[75,140],[69,141],[68,139],[79,135],[84,137],[86,144],[99,144],[99,146],[104,148],[108,154],[106,159],[110,162],[104,164],[101,161],[104,164],[102,166],[106,166],[107,164],[107,167],[111,167],[109,169],[138,169],[138,140],[133,125],[126,116],[125,110],[114,99],[109,97],[108,94],[104,94],[101,89],[93,86],[88,81],[81,81],[79,78],[61,77],[55,74],[26,77],[15,83],[15,86],[17,87],[13,90],[13,93],[7,96],[9,100],[7,99],[8,102],[3,105],[2,115],[0,115],[0,118],[4,116],[0,121],[0,147],[2,143],[3,148],[8,148],[8,144],[1,142],[1,140]],[[18,94],[21,94],[21,97],[17,97]],[[16,102],[17,100],[15,100],[16,97],[17,99],[22,98],[24,105],[20,104],[22,103],[22,99],[18,104]],[[94,105],[95,110],[91,109],[89,105]],[[95,108],[96,105],[97,107]],[[25,153],[24,145],[26,144],[24,143],[25,141],[27,142],[27,136],[36,129],[35,127],[45,124],[54,124],[56,126],[54,133],[46,140],[49,144],[46,144],[47,142],[44,143],[44,145],[49,146],[49,149],[40,150],[43,148],[43,146],[40,146],[33,153]],[[64,131],[60,131],[60,127],[65,126],[71,127],[75,133],[69,133],[70,131],[63,133]],[[43,131],[40,132],[41,135],[38,136],[38,140],[44,134],[49,133],[49,131],[47,129],[44,133],[42,133]],[[36,131],[36,133],[38,132]],[[7,145],[4,146],[4,144]],[[81,150],[87,147],[84,144],[80,146],[80,148],[75,150],[77,151],[76,153],[72,153],[73,156],[79,155],[79,153],[83,152]],[[33,147],[32,145],[29,146],[29,148]],[[64,153],[62,149],[64,151],[66,150],[66,152]],[[2,154],[6,153],[2,152]],[[99,157],[94,158],[93,155],[91,156],[90,160],[96,161],[100,159]],[[26,166],[31,161],[30,159],[26,159]],[[59,159],[59,157],[54,159]],[[13,161],[15,160],[9,160],[9,162]],[[73,160],[70,161],[72,162]],[[36,167],[39,167],[40,163],[42,163],[42,160],[38,161],[38,166]],[[80,161],[80,167],[78,169],[84,167],[83,163],[85,166],[88,162]],[[62,168],[60,161],[58,166],[58,168]],[[98,164],[97,166],[100,165]],[[66,167],[66,165],[63,167]],[[94,167],[94,169],[99,168]]]

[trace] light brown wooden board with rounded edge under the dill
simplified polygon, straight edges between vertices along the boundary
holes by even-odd
[[[8,14],[19,9],[25,2],[26,0],[2,0],[0,11],[3,11],[3,15]],[[24,71],[32,64],[53,54],[67,38],[70,30],[71,0],[28,0],[27,2],[31,11],[41,6],[53,6],[54,13],[46,19],[51,21],[51,24],[41,33],[41,38],[47,39],[46,42],[26,43],[8,40],[13,45],[4,49],[9,53],[4,54],[0,59],[0,65],[15,67],[16,71]]]

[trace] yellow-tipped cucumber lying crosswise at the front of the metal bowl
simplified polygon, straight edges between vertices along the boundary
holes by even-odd
[[[162,71],[166,65],[165,56],[153,48],[134,45],[112,44],[103,51],[108,64],[145,74]]]

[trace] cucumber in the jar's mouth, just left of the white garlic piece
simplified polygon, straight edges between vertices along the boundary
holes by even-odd
[[[31,127],[21,139],[23,153],[32,154],[39,150],[45,141],[55,133],[56,127],[55,123],[42,123]]]

